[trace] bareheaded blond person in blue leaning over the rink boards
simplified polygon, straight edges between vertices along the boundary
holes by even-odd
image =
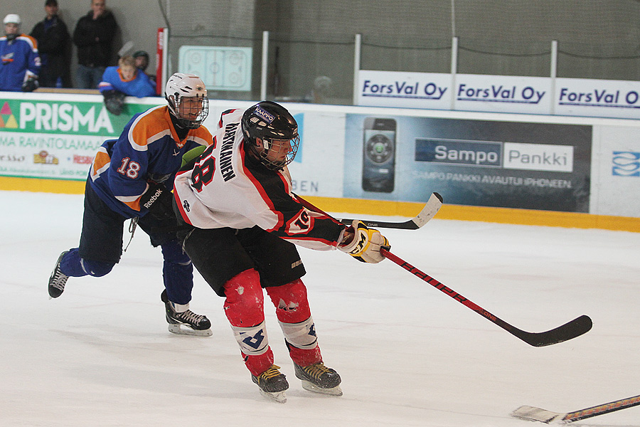
[[[114,115],[122,113],[125,96],[156,95],[156,86],[148,75],[136,68],[136,60],[132,56],[120,58],[117,67],[107,67],[98,90],[105,97],[105,107]]]

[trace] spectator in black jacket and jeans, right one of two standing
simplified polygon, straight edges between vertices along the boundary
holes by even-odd
[[[116,29],[116,20],[106,9],[105,0],[91,0],[91,10],[78,20],[73,31],[73,43],[78,47],[78,88],[97,88],[109,65]]]

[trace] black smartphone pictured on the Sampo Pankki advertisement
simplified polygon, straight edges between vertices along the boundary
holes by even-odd
[[[367,117],[364,122],[362,189],[390,193],[395,183],[395,120]]]

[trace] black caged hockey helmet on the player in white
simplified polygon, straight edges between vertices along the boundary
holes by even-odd
[[[242,133],[245,148],[269,169],[282,169],[293,162],[298,152],[298,124],[291,113],[276,102],[262,101],[247,108],[242,115]],[[262,148],[257,144],[258,138]],[[286,157],[282,156],[282,150],[287,150]]]

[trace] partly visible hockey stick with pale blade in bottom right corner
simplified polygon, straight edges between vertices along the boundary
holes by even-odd
[[[527,421],[540,421],[542,423],[551,423],[555,421],[570,423],[572,421],[584,420],[585,418],[591,418],[592,416],[619,411],[620,409],[631,408],[631,406],[638,405],[640,405],[640,395],[567,413],[547,411],[545,409],[536,408],[535,406],[521,406],[516,409],[516,411],[513,411],[511,416]]]

